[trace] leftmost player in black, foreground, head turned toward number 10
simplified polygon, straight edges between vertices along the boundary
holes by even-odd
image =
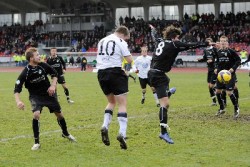
[[[39,120],[43,107],[48,107],[50,113],[54,113],[57,122],[62,129],[62,137],[76,142],[76,139],[69,134],[65,118],[61,112],[61,106],[56,96],[57,72],[48,64],[40,62],[40,55],[36,48],[29,48],[25,53],[29,64],[23,69],[16,80],[14,95],[17,107],[24,110],[24,103],[20,99],[23,84],[29,91],[29,100],[33,112],[32,128],[34,133],[35,144],[31,150],[40,148],[39,141]],[[51,75],[52,83],[47,77]]]

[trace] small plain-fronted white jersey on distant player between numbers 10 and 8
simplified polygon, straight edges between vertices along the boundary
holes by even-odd
[[[139,56],[134,61],[136,69],[139,70],[138,76],[140,78],[148,78],[148,71],[150,70],[151,60],[151,56]]]

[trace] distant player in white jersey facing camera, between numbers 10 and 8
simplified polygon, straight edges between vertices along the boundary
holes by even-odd
[[[149,80],[148,80],[148,71],[150,69],[152,57],[148,56],[148,48],[147,47],[141,47],[141,56],[137,57],[134,61],[134,67],[136,68],[136,73],[139,76],[139,82],[142,89],[142,99],[141,104],[144,104],[145,102],[145,94],[146,94],[146,88],[147,85],[150,86]],[[160,103],[157,97],[157,94],[155,92],[155,89],[151,87],[151,90],[153,92],[153,96],[155,98],[156,106],[160,107]],[[168,96],[171,96],[171,94],[174,94],[176,91],[175,88],[171,88]]]

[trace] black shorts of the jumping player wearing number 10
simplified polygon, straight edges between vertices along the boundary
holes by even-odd
[[[128,76],[119,67],[98,70],[97,78],[105,95],[120,95],[128,92]]]

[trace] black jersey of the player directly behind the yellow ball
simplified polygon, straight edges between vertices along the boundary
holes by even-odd
[[[215,64],[218,71],[229,70],[230,68],[236,71],[241,64],[240,56],[232,49],[219,49],[216,53]]]

